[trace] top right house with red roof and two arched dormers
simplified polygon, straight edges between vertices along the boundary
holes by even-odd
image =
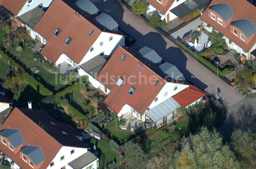
[[[223,34],[228,47],[244,55],[256,57],[256,7],[246,0],[212,0],[202,14],[204,28]]]

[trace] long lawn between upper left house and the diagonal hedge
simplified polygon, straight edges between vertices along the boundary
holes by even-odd
[[[34,52],[30,48],[23,47],[22,51],[16,51],[15,49],[20,42],[21,41],[16,41],[14,43],[14,47],[10,45],[6,48],[6,51],[13,49],[13,51],[10,53],[10,56],[13,57],[17,63],[21,65],[25,64],[27,69],[35,66],[39,67],[39,72],[35,74],[34,77],[49,90],[53,92],[59,92],[63,90],[63,88],[65,88],[67,85],[62,84],[62,74],[50,73],[45,68],[40,67],[39,62],[34,61],[32,57]]]

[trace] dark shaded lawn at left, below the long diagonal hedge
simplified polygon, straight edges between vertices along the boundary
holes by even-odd
[[[13,96],[13,100],[18,99],[19,107],[28,107],[28,101],[32,102],[33,108],[37,108],[37,104],[44,98],[34,88],[28,85],[26,82],[19,83],[18,94]]]

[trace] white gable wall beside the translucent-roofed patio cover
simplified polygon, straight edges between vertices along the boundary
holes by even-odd
[[[174,90],[174,87],[177,86],[177,89]],[[182,84],[177,84],[177,83],[169,83],[167,82],[164,87],[161,89],[161,91],[157,94],[157,98],[158,100],[155,102],[155,100],[153,100],[153,102],[151,103],[151,105],[149,106],[150,109],[159,105],[160,103],[164,102],[165,100],[167,100],[168,98],[172,97],[173,95],[177,94],[178,92],[186,89],[187,87],[189,87],[188,85],[182,85]],[[167,95],[164,96],[164,93],[167,92]],[[147,110],[145,110],[147,111]]]

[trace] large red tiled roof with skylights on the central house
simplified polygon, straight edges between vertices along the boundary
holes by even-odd
[[[125,54],[126,57],[123,61],[121,61],[120,58],[123,54]],[[145,84],[144,77],[141,78],[141,84],[139,83],[140,75],[147,78],[147,84]],[[103,76],[106,76],[106,78],[101,78]],[[131,78],[131,82],[134,82],[135,84],[129,84],[127,82],[131,76],[136,76],[135,78]],[[150,76],[154,76],[156,78],[152,80],[153,84],[156,80],[159,81],[156,87],[149,83],[148,79]],[[119,77],[125,80],[121,86],[115,84]],[[103,102],[111,110],[119,113],[123,106],[127,103],[141,115],[145,113],[148,106],[150,106],[166,83],[163,78],[157,75],[146,65],[144,65],[142,68],[142,62],[139,66],[139,60],[129,53],[126,50],[126,47],[121,46],[116,49],[109,61],[102,68],[101,72],[97,76],[97,79],[111,90]],[[105,84],[106,81],[108,81],[108,83]],[[132,95],[128,94],[131,87],[136,89]]]

